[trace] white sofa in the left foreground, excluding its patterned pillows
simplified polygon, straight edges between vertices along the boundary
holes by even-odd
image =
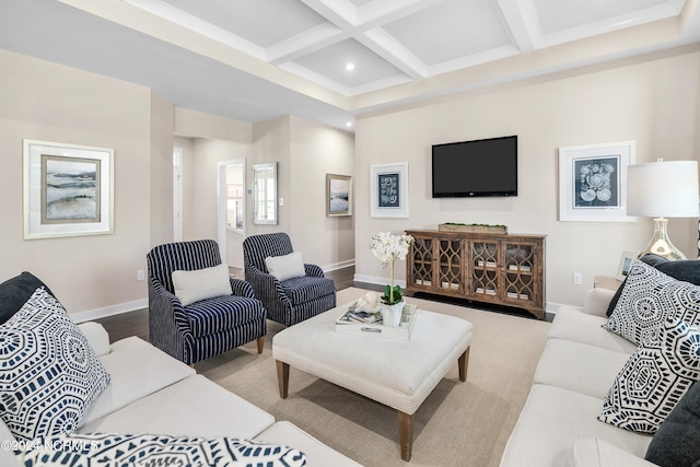
[[[102,325],[84,323],[79,328],[109,373],[110,384],[90,406],[78,433],[257,440],[301,451],[307,466],[359,466],[138,337],[109,345]],[[18,465],[8,448],[18,445],[0,420],[0,465]]]

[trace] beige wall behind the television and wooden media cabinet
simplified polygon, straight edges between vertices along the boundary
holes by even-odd
[[[700,52],[649,56],[483,90],[360,118],[355,131],[357,279],[386,282],[368,242],[377,231],[436,229],[442,222],[506,224],[547,235],[549,304],[580,305],[595,275],[617,271],[623,250],[641,248],[652,220],[559,222],[557,148],[637,141],[637,162],[698,159]],[[518,136],[516,198],[432,199],[431,144]],[[409,219],[370,218],[370,165],[409,163]],[[669,221],[676,246],[696,257],[697,220]],[[572,272],[583,285],[572,285]],[[397,266],[405,279],[405,265]]]

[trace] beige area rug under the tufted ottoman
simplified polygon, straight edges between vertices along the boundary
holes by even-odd
[[[365,292],[345,289],[338,292],[338,304]],[[455,362],[418,409],[408,465],[498,467],[550,324],[413,297],[407,302],[474,324],[467,381],[459,382]],[[400,456],[396,410],[293,367],[289,397],[280,399],[272,337],[282,328],[268,322],[261,355],[253,342],[198,363],[197,371],[364,466],[407,465]]]

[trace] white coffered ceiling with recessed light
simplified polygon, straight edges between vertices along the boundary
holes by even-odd
[[[345,128],[429,96],[700,42],[699,0],[2,0],[0,48],[256,122]]]

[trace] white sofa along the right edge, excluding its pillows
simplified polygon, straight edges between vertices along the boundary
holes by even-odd
[[[651,435],[597,420],[637,346],[603,329],[615,291],[592,289],[583,310],[561,306],[501,467],[653,466]]]

